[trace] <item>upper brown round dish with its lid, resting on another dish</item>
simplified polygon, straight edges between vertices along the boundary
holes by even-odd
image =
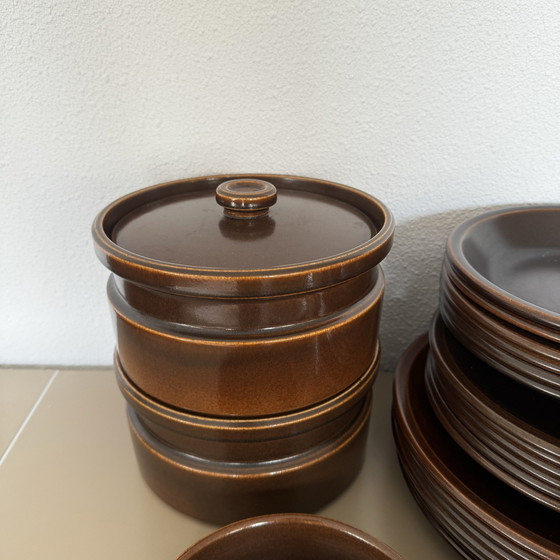
[[[281,175],[202,177],[119,199],[93,235],[114,273],[126,376],[155,400],[221,417],[334,397],[374,360],[377,265],[393,229],[361,191]]]

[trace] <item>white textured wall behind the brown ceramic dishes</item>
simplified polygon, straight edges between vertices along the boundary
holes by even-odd
[[[157,182],[290,173],[385,201],[386,367],[455,224],[560,202],[557,0],[7,0],[0,42],[0,363],[110,363],[90,225]]]

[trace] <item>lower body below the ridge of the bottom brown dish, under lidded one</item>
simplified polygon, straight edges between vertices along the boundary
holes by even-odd
[[[314,512],[340,494],[364,461],[371,390],[348,427],[304,453],[256,463],[220,462],[177,451],[154,437],[128,406],[142,476],[179,511],[226,524],[278,512]]]

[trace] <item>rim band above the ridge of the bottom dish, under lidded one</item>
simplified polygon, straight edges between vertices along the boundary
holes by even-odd
[[[173,409],[140,391],[115,355],[117,382],[138,422],[163,444],[207,461],[255,463],[297,455],[347,429],[363,408],[379,367],[323,403],[291,414],[261,418],[201,416]]]

